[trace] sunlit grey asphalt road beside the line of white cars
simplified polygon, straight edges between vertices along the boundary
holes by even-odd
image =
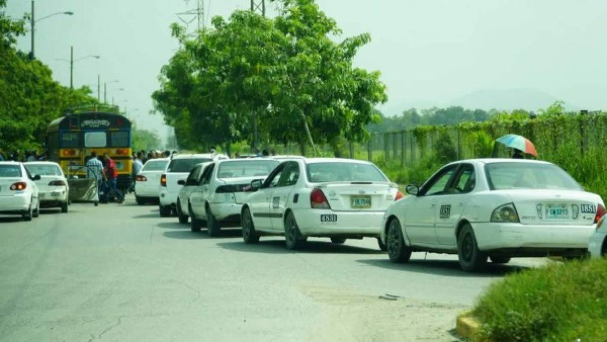
[[[74,204],[0,217],[0,340],[453,341],[455,315],[491,282],[541,262],[470,274],[455,256],[414,253],[395,265],[375,239],[291,252],[280,237],[194,234],[132,197]]]

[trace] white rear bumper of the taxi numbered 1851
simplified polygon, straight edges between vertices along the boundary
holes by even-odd
[[[538,248],[562,251],[588,248],[595,225],[523,225],[483,222],[472,224],[480,250]]]

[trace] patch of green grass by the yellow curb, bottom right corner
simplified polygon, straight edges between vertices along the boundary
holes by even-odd
[[[566,262],[506,276],[480,298],[481,340],[607,341],[607,261]]]

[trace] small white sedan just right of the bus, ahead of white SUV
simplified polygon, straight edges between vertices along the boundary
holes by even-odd
[[[160,176],[169,163],[168,158],[148,160],[141,171],[135,176],[135,201],[144,205],[148,201],[158,200],[158,184]]]

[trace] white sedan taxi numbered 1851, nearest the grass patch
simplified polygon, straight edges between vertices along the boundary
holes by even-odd
[[[393,262],[412,251],[458,254],[479,270],[487,257],[582,256],[603,200],[558,166],[534,160],[472,159],[439,169],[423,186],[407,186],[382,223]]]

